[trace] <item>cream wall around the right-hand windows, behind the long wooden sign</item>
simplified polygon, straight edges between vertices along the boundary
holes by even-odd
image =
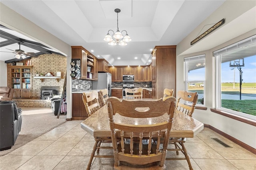
[[[211,112],[211,108],[215,108],[216,102],[215,102],[215,80],[216,80],[216,70],[215,70],[215,57],[213,56],[213,51],[216,51],[218,49],[221,49],[223,47],[226,47],[228,45],[231,45],[232,43],[236,43],[242,39],[245,39],[247,37],[250,37],[252,35],[256,34],[256,20],[250,21],[254,23],[254,29],[250,29],[250,31],[247,30],[248,27],[246,25],[243,25],[245,27],[245,30],[241,30],[242,28],[236,27],[234,23],[236,23],[236,18],[238,20],[241,20],[241,17],[245,14],[248,14],[248,11],[251,9],[254,9],[256,6],[255,1],[243,1],[244,4],[241,4],[240,1],[226,1],[220,8],[217,9],[214,14],[212,14],[209,18],[207,18],[201,26],[197,27],[195,30],[200,30],[202,25],[206,25],[207,23],[211,23],[212,21],[219,21],[222,18],[225,18],[227,21],[220,28],[218,28],[217,32],[212,32],[210,33],[210,38],[204,40],[204,43],[206,41],[208,42],[214,42],[214,43],[209,43],[213,46],[208,46],[208,49],[205,47],[201,46],[201,49],[204,50],[197,50],[196,52],[193,53],[188,53],[188,51],[195,51],[193,47],[190,46],[190,42],[196,38],[195,33],[197,31],[193,31],[188,37],[186,37],[182,42],[180,42],[177,45],[177,58],[176,58],[176,91],[178,90],[184,90],[184,57],[190,57],[190,56],[195,56],[195,55],[200,55],[200,54],[205,54],[206,55],[206,64],[205,64],[205,71],[206,71],[206,84],[204,86],[205,88],[205,104],[207,107],[207,110],[199,110],[196,109],[196,111],[193,114],[193,117],[197,119],[198,121],[201,121],[202,123],[211,125],[212,127],[215,127],[216,129],[238,139],[239,141],[242,141],[243,143],[253,147],[256,149],[256,127],[243,123],[241,121],[237,121],[235,119],[231,119],[229,117],[225,117],[223,115]],[[226,8],[229,6],[229,8]],[[225,8],[224,8],[225,7]],[[242,7],[242,8],[241,8]],[[226,9],[226,10],[224,10]],[[232,15],[230,15],[230,13]],[[254,15],[255,15],[255,10],[254,10]],[[255,16],[252,16],[252,18]],[[250,18],[250,17],[249,17]],[[210,21],[209,21],[210,20]],[[245,18],[246,20],[246,18]],[[232,25],[232,30],[229,29],[225,30],[227,27],[229,27],[229,24]],[[236,23],[236,24],[239,24]],[[250,23],[249,23],[250,24]],[[222,30],[221,30],[222,29]],[[239,29],[236,31],[236,29]],[[218,32],[221,32],[225,30],[225,33],[222,34],[222,37],[214,36],[218,35]],[[216,33],[216,34],[215,34]],[[242,34],[241,34],[242,33]],[[239,35],[237,35],[239,34]],[[208,35],[207,35],[208,36]],[[232,38],[231,38],[232,37]],[[225,41],[226,39],[226,41]],[[201,40],[200,40],[201,41]],[[199,41],[199,42],[200,42]],[[224,41],[224,42],[223,42]],[[222,43],[220,43],[222,42]],[[218,43],[218,45],[215,45]],[[207,44],[207,45],[209,45]],[[202,45],[202,44],[200,44]],[[206,46],[207,46],[206,45]],[[200,49],[198,47],[194,47],[197,49]],[[192,50],[191,50],[192,49]]]

